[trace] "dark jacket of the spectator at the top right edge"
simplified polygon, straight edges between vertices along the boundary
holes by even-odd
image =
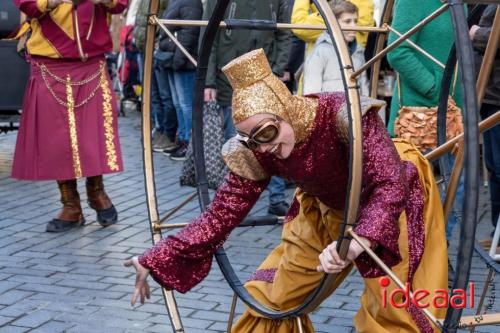
[[[478,74],[483,61],[484,52],[486,51],[488,38],[490,37],[491,26],[493,25],[493,20],[495,19],[496,9],[497,5],[489,5],[486,7],[481,19],[479,20],[478,25],[480,28],[476,31],[474,39],[472,40],[472,46],[476,51],[476,70]],[[498,48],[493,62],[493,68],[491,69],[490,78],[488,79],[488,84],[486,86],[484,103],[500,105],[500,51]]]

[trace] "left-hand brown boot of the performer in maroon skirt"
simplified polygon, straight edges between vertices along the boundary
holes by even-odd
[[[47,223],[47,232],[64,232],[85,224],[76,179],[58,180],[57,185],[63,208],[55,219]]]

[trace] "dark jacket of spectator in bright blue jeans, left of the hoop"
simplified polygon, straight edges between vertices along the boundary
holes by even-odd
[[[164,19],[170,20],[200,20],[203,15],[203,6],[200,0],[172,0],[170,1]],[[198,57],[199,27],[167,26],[179,43],[193,58]],[[196,67],[182,53],[182,51],[162,32],[160,34],[160,50],[174,52],[173,69],[175,71],[194,70]]]

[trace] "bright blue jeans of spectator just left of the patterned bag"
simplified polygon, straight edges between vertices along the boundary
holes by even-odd
[[[179,141],[189,142],[193,119],[195,71],[173,71],[168,75],[172,100],[177,113]]]

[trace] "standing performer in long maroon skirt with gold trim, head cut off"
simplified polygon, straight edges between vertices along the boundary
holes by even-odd
[[[14,0],[27,15],[31,76],[24,95],[12,176],[57,180],[63,208],[47,231],[84,223],[77,179],[86,177],[89,206],[102,226],[118,214],[102,175],[123,170],[117,102],[104,54],[108,19],[128,0]]]

